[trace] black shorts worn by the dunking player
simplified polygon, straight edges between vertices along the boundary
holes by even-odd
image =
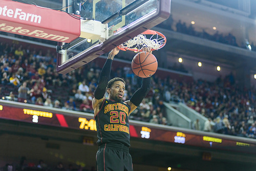
[[[96,154],[97,171],[133,171],[129,147],[120,143],[99,146]]]

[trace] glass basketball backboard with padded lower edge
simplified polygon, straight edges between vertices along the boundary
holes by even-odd
[[[66,12],[82,19],[105,24],[104,39],[79,37],[70,43],[58,42],[57,72],[66,74],[107,53],[170,15],[170,0],[63,0]],[[66,24],[69,24],[67,21]],[[89,25],[92,32],[97,29]],[[88,28],[87,28],[88,29]]]

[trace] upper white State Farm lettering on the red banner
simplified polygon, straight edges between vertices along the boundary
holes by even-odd
[[[28,22],[33,22],[33,23],[41,23],[41,16],[40,15],[35,15],[35,14],[30,14],[23,12],[22,9],[16,8],[15,10],[13,9],[8,9],[7,6],[0,7],[0,15],[7,16],[10,18],[17,18],[20,20],[25,20]]]

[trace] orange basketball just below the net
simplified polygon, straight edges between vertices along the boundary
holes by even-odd
[[[157,71],[157,59],[149,52],[140,52],[132,60],[132,70],[135,75],[146,78],[150,77]]]

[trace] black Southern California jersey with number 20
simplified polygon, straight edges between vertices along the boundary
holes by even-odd
[[[124,102],[103,100],[95,116],[99,145],[118,142],[130,147],[130,111],[131,106]]]

